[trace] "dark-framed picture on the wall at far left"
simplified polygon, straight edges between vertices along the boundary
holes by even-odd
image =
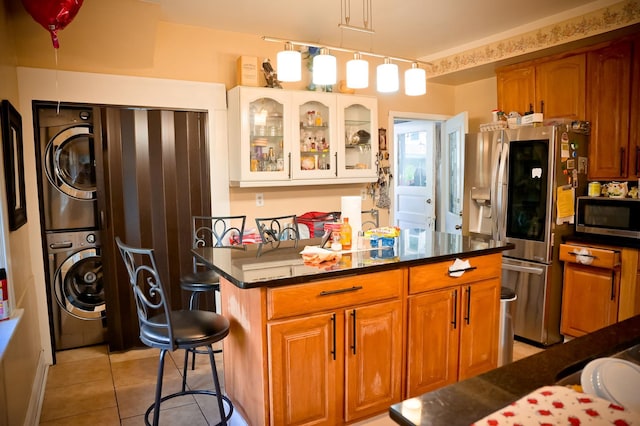
[[[24,191],[24,158],[22,155],[22,117],[8,100],[2,101],[2,152],[4,178],[9,210],[9,230],[27,223],[27,200]]]

